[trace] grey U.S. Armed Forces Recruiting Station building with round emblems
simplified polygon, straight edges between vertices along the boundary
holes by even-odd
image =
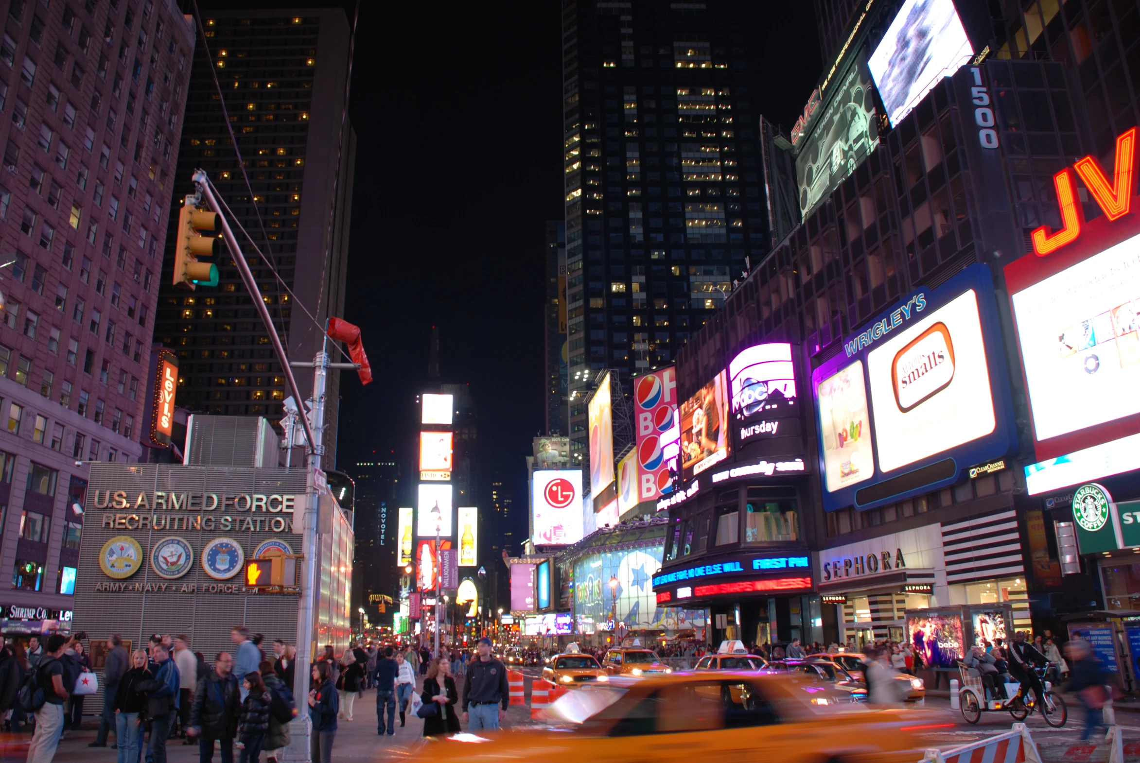
[[[236,624],[267,643],[296,645],[295,589],[246,588],[245,561],[302,552],[304,501],[303,468],[92,463],[73,631],[92,643],[119,633],[133,645],[185,633],[210,659],[233,649]],[[340,653],[350,629],[352,530],[339,507],[333,515],[318,543],[314,640]]]

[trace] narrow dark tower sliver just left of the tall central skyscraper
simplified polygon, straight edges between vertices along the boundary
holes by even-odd
[[[546,302],[543,305],[546,376],[546,434],[565,434],[567,422],[567,257],[565,228],[546,221]]]

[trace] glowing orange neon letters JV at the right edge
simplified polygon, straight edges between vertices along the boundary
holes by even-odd
[[[1033,251],[1040,257],[1052,254],[1081,235],[1084,211],[1076,192],[1076,175],[1084,181],[1089,194],[1097,200],[1105,216],[1119,220],[1132,211],[1132,194],[1135,187],[1137,128],[1132,128],[1116,139],[1116,166],[1109,183],[1104,167],[1093,156],[1085,156],[1073,167],[1065,167],[1053,175],[1057,188],[1057,204],[1061,213],[1061,229],[1050,231],[1042,225],[1033,231]],[[1076,170],[1074,174],[1073,170]]]

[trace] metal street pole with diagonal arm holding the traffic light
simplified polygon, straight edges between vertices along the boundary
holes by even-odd
[[[326,330],[320,352],[316,354],[312,361],[290,362],[288,356],[285,354],[285,348],[282,346],[280,337],[274,328],[272,319],[269,317],[269,310],[266,307],[266,302],[261,297],[261,290],[258,288],[258,284],[253,279],[253,273],[250,271],[250,265],[245,261],[245,256],[242,254],[242,247],[238,246],[237,239],[234,237],[234,231],[230,230],[229,223],[226,222],[226,218],[221,213],[218,200],[214,198],[213,191],[210,188],[210,181],[206,178],[205,171],[195,170],[194,184],[197,188],[199,198],[205,203],[211,212],[214,212],[218,215],[218,220],[221,224],[222,238],[226,241],[226,246],[229,248],[230,255],[234,257],[238,272],[242,274],[242,281],[245,284],[245,288],[250,293],[250,297],[253,300],[253,304],[258,309],[258,313],[261,315],[261,322],[264,323],[266,331],[269,334],[269,338],[272,342],[277,360],[284,370],[285,382],[293,395],[293,400],[296,401],[300,407],[299,418],[301,419],[301,425],[304,428],[304,436],[309,444],[309,458],[306,469],[306,502],[302,509],[303,515],[301,517],[301,553],[304,557],[304,564],[301,567],[301,600],[298,608],[296,662],[294,663],[295,678],[292,687],[293,696],[296,697],[298,708],[301,712],[298,714],[298,717],[290,723],[291,740],[282,757],[282,760],[286,763],[308,763],[310,756],[309,740],[312,729],[309,721],[309,713],[307,711],[307,699],[309,696],[309,674],[312,670],[312,656],[316,649],[314,631],[316,625],[315,615],[317,599],[317,549],[320,534],[318,518],[320,515],[321,494],[327,493],[328,491],[328,484],[325,481],[325,473],[321,471],[320,468],[321,456],[324,454],[325,448],[323,441],[318,440],[325,430],[325,382],[328,375],[328,369],[348,370],[359,369],[360,367],[356,363],[328,362],[328,354],[325,352],[328,346],[327,325],[325,327]],[[296,386],[296,379],[293,377],[293,368],[312,369],[311,424],[309,418],[304,415],[304,404],[302,402],[303,397],[301,397],[301,393]],[[317,436],[315,436],[314,433],[316,433]],[[291,440],[290,448],[292,448],[292,445],[293,443]],[[331,501],[332,497],[329,495],[327,500]],[[298,522],[295,514],[293,516],[293,522],[294,524]]]

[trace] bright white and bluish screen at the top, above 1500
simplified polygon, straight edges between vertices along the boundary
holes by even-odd
[[[868,60],[890,124],[972,56],[953,0],[906,0]]]

